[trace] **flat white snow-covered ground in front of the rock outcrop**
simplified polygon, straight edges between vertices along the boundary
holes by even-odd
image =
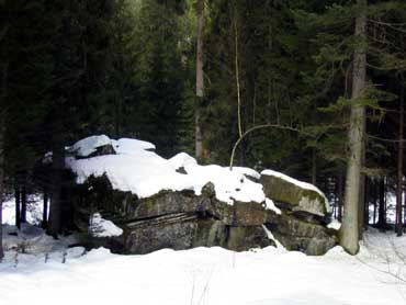
[[[339,247],[324,257],[272,247],[145,256],[9,251],[0,263],[0,304],[397,305],[406,304],[405,255],[405,237],[375,230],[356,257]]]

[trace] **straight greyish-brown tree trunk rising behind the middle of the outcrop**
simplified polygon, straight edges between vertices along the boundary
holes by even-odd
[[[195,157],[203,157],[203,136],[201,127],[201,108],[204,98],[203,75],[203,34],[204,34],[204,0],[198,0],[198,53],[196,53],[196,105],[195,105]]]

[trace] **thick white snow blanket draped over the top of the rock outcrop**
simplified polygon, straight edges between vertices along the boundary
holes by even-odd
[[[66,158],[66,166],[77,174],[78,183],[84,183],[90,176],[106,174],[113,189],[129,191],[138,197],[148,197],[161,190],[193,190],[199,195],[202,188],[212,182],[216,197],[229,204],[235,200],[259,203],[264,201],[262,185],[247,179],[241,169],[230,171],[215,165],[200,166],[184,152],[167,160],[150,151],[151,144],[137,139],[111,140],[106,136],[99,137],[82,139],[70,149],[86,156],[95,151],[97,147],[112,143],[116,155],[88,159]],[[181,167],[187,173],[177,171]],[[247,173],[247,170],[244,171]],[[255,174],[253,171],[250,174]]]

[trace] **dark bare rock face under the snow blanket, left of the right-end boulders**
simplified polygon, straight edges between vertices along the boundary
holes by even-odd
[[[112,190],[105,177],[89,179],[78,188],[75,223],[86,231],[90,211],[99,211],[124,233],[120,237],[95,238],[93,242],[116,252],[213,246],[240,251],[275,245],[262,228],[267,211],[261,204],[237,202],[232,206],[219,202],[211,183],[199,196],[191,191],[161,191],[140,200],[129,192]]]

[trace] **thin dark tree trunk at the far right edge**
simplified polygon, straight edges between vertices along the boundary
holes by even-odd
[[[403,194],[403,138],[404,138],[404,99],[405,99],[405,90],[402,86],[401,91],[401,111],[399,111],[399,144],[398,144],[398,151],[397,151],[397,190],[396,190],[396,234],[397,236],[402,236],[403,234],[403,218],[402,218],[402,194]]]

